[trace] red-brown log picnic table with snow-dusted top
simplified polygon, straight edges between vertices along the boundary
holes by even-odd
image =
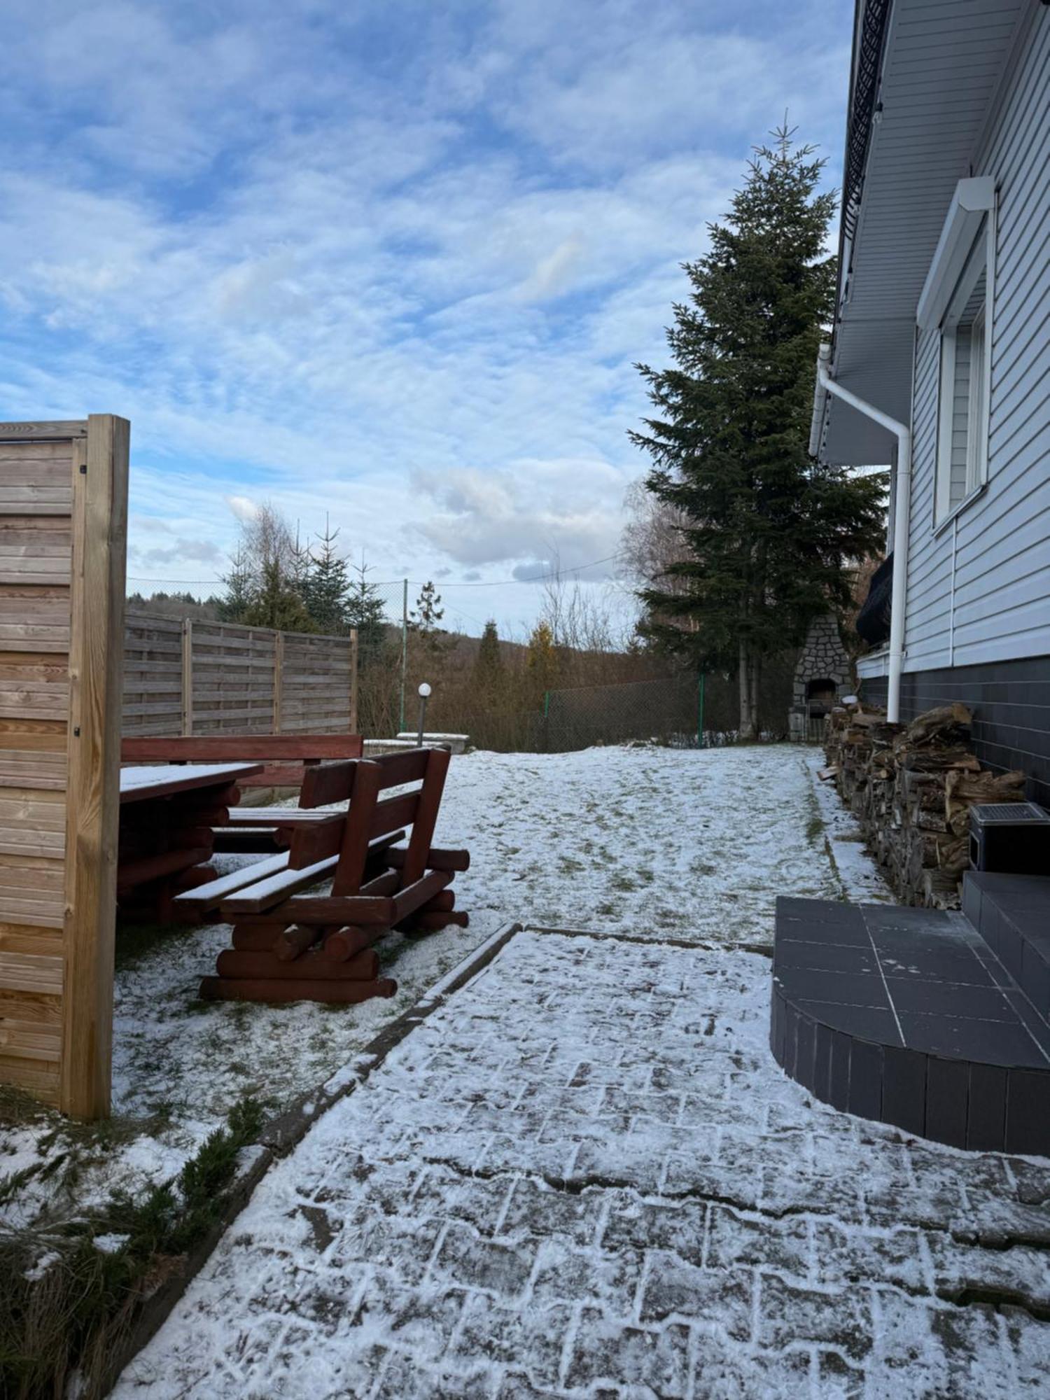
[[[183,890],[216,878],[214,827],[262,763],[150,764],[120,770],[116,897],[123,914],[167,923]]]

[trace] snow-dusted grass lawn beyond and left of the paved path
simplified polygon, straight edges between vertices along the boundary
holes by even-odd
[[[797,746],[472,753],[452,760],[435,840],[466,846],[456,900],[470,927],[395,937],[381,955],[399,993],[361,1007],[204,1004],[197,984],[228,946],[223,925],[119,939],[113,1100],[101,1140],[59,1127],[63,1170],[0,1208],[28,1222],[113,1186],[178,1170],[245,1093],[279,1109],[321,1084],[507,920],[641,938],[769,942],[776,895],[886,897],[819,755]],[[830,844],[829,844],[830,839]],[[143,1131],[136,1130],[143,1120]],[[45,1117],[0,1127],[0,1177],[41,1165]]]

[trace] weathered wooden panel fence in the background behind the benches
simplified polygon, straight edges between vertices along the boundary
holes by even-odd
[[[127,735],[357,732],[357,637],[129,613]]]

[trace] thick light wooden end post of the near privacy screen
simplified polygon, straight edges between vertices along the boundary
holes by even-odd
[[[129,431],[126,419],[94,413],[73,451],[59,1105],[88,1119],[109,1113]]]

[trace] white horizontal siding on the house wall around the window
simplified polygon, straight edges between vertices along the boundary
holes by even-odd
[[[998,188],[988,483],[938,533],[939,333],[916,342],[906,671],[1050,654],[1050,11],[1030,39],[959,171]]]

